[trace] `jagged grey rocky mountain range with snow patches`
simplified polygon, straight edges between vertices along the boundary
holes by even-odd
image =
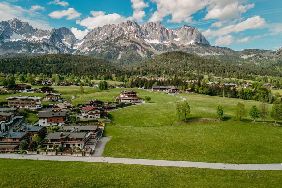
[[[104,25],[90,31],[82,40],[76,39],[66,27],[48,31],[34,29],[17,18],[0,22],[1,58],[65,53],[130,64],[169,51],[184,51],[237,64],[270,62],[268,64],[272,65],[282,57],[282,48],[278,51],[234,51],[211,46],[193,26],[173,30],[164,27],[160,21],[138,25],[133,20]]]

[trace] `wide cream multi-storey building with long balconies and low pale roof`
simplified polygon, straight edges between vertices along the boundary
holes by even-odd
[[[6,98],[9,107],[28,108],[35,111],[42,109],[41,99],[43,98],[36,96],[11,96]]]

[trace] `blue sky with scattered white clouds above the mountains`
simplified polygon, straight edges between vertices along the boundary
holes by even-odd
[[[282,47],[281,0],[4,0],[0,20],[19,18],[33,27],[68,27],[77,38],[104,24],[136,20],[172,29],[193,25],[211,45],[234,50]]]

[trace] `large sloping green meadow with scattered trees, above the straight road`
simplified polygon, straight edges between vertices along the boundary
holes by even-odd
[[[269,123],[239,121],[235,106],[241,101],[247,111],[260,103],[200,94],[180,94],[190,104],[188,123],[175,124],[175,103],[147,104],[109,112],[114,124],[104,135],[112,136],[104,156],[223,163],[281,162],[282,129]],[[225,121],[215,119],[222,105]],[[268,105],[271,108],[271,104]],[[201,120],[208,118],[208,120]],[[183,118],[182,118],[183,120]]]

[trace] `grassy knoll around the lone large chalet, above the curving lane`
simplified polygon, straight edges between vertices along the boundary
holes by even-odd
[[[72,100],[72,104],[84,104],[86,100],[90,99],[99,99],[102,101],[109,101],[113,102],[115,100],[115,97],[120,96],[119,92],[122,90],[129,90],[128,88],[114,88],[114,89],[109,89],[109,90],[104,90],[102,92],[96,92],[96,93],[91,93],[87,94],[84,96],[78,96],[76,99]],[[149,103],[164,103],[164,102],[174,102],[177,100],[181,100],[178,97],[171,96],[171,95],[165,95],[165,94],[160,94],[157,92],[149,92],[144,89],[130,89],[133,91],[136,91],[138,93],[138,96],[141,98],[144,98],[146,95],[151,97],[151,100]]]

